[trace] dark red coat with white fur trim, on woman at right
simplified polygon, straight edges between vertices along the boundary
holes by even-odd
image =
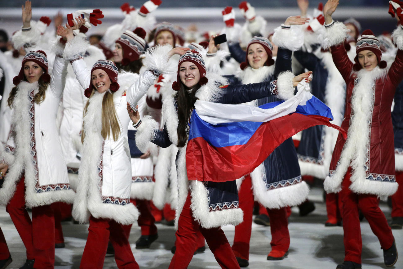
[[[391,105],[403,78],[403,51],[397,52],[388,70],[377,67],[373,71],[361,69],[358,72],[353,71],[353,63],[343,44],[332,46],[331,52],[347,84],[345,118],[341,124],[347,131],[347,140],[340,134],[337,138],[325,182],[326,191],[339,191],[347,168],[351,167],[351,190],[391,195],[397,189]],[[374,86],[370,85],[371,81]]]

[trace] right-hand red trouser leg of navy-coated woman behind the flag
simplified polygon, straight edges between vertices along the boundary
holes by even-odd
[[[290,234],[288,231],[287,209],[282,207],[280,209],[267,209],[270,218],[270,231],[272,234],[272,241],[270,246],[270,256],[282,257],[290,247]]]

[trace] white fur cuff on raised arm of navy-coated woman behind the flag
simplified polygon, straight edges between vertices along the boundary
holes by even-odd
[[[294,25],[291,25],[291,27],[281,25],[274,29],[272,40],[278,47],[292,51],[299,50],[304,41],[301,28]]]

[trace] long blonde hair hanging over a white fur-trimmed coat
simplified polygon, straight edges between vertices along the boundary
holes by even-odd
[[[95,90],[91,92],[87,104],[84,107],[83,115],[87,113],[88,105],[91,100],[91,96],[93,96]],[[81,143],[84,143],[85,132],[84,132],[84,122],[83,127],[81,128]],[[110,131],[112,129],[112,137],[113,140],[118,140],[120,135],[120,126],[118,122],[118,118],[116,116],[115,105],[113,102],[113,94],[110,91],[107,91],[102,98],[102,130],[101,136],[106,139],[110,136]]]

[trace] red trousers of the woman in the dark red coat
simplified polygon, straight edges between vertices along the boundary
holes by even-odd
[[[373,194],[353,193],[349,189],[351,184],[350,177],[351,169],[347,171],[343,179],[340,192],[343,203],[344,260],[361,263],[362,241],[358,209],[364,214],[383,249],[388,249],[392,246],[393,235],[385,215],[378,206],[378,197]]]

